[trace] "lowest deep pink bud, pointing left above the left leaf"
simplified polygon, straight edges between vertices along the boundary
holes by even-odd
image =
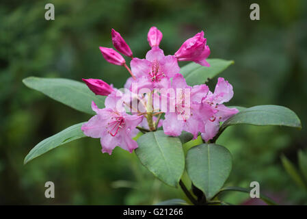
[[[100,79],[82,79],[96,95],[107,96],[114,91],[113,86]]]

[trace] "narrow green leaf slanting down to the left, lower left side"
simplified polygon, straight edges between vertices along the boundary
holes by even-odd
[[[36,146],[34,146],[34,148],[25,157],[24,164],[27,164],[27,162],[29,162],[31,159],[34,159],[50,151],[51,149],[55,149],[57,146],[85,137],[83,131],[81,131],[82,125],[83,123],[72,125],[54,136],[46,138],[45,140],[42,140],[40,143],[36,144]]]

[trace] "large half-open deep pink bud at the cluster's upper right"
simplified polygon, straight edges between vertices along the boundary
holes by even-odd
[[[202,66],[210,66],[210,64],[206,62],[206,58],[210,55],[210,49],[206,45],[204,31],[201,31],[183,42],[180,49],[178,49],[174,55],[177,57],[178,61],[193,61]]]

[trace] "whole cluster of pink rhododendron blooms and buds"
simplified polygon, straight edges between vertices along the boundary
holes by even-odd
[[[96,95],[107,96],[103,109],[92,103],[96,115],[81,127],[86,136],[101,138],[103,153],[111,155],[115,146],[132,153],[137,148],[133,137],[139,131],[155,131],[159,127],[169,136],[180,136],[187,131],[196,139],[201,133],[208,142],[217,134],[219,123],[238,112],[222,104],[233,96],[228,81],[219,77],[211,92],[205,84],[188,86],[180,73],[181,61],[210,66],[206,62],[210,49],[203,31],[186,40],[174,55],[164,55],[159,48],[163,35],[157,27],[151,27],[148,32],[151,49],[145,59],[133,57],[129,45],[114,29],[111,37],[115,49],[132,59],[129,68],[120,53],[99,47],[107,62],[124,66],[131,74],[124,90],[101,79],[83,79]]]

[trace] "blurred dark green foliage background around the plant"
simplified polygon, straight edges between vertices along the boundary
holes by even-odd
[[[261,21],[250,20],[250,4],[260,5]],[[55,5],[55,21],[44,19],[44,5]],[[129,74],[103,59],[99,46],[112,47],[119,31],[135,57],[144,57],[147,32],[163,32],[161,48],[173,54],[187,38],[204,30],[210,57],[235,60],[221,77],[234,86],[228,105],[284,105],[297,113],[303,129],[230,127],[217,143],[230,149],[233,168],[226,185],[261,192],[281,204],[307,204],[280,161],[297,164],[307,147],[307,1],[14,1],[0,3],[0,204],[120,205],[185,198],[139,164],[134,153],[116,148],[101,153],[98,139],[83,138],[23,166],[38,142],[90,118],[30,90],[29,76],[101,78],[122,87]],[[183,63],[185,64],[185,63]],[[217,79],[209,81],[213,88]],[[44,183],[55,183],[55,198],[44,197]],[[247,194],[231,193],[235,204]]]

